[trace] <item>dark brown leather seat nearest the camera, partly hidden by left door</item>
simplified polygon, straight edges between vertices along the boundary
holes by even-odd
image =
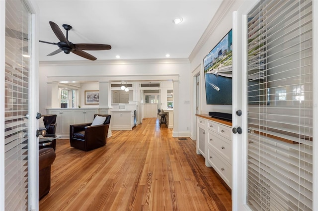
[[[51,165],[55,157],[52,148],[39,150],[39,200],[46,196],[51,189]]]

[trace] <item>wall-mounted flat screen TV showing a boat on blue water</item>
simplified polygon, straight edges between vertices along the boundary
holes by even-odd
[[[203,59],[208,105],[232,105],[232,29]]]

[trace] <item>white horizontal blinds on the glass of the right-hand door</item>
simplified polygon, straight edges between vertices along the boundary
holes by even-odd
[[[312,0],[261,0],[247,16],[247,203],[313,209]]]

